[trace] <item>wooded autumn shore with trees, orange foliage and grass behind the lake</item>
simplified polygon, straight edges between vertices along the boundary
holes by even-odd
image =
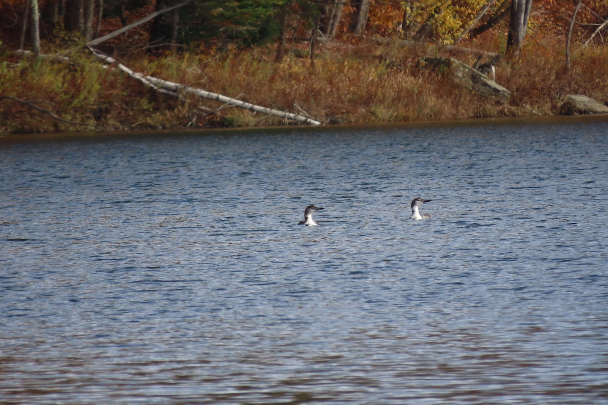
[[[603,0],[0,0],[0,129],[277,124],[181,90],[165,100],[99,70],[89,49],[136,73],[323,122],[554,114],[570,90],[608,99],[596,69],[606,66],[607,24]],[[496,65],[510,103],[458,106],[471,96],[413,68],[438,52]]]

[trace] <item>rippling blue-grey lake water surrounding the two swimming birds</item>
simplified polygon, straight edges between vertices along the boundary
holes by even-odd
[[[0,398],[608,403],[607,135],[4,142]],[[432,219],[409,220],[418,196]],[[312,203],[319,226],[298,226]]]

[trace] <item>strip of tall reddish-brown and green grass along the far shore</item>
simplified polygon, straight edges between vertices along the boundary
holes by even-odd
[[[606,47],[573,46],[568,70],[563,38],[528,43],[517,60],[500,62],[497,82],[511,91],[506,104],[418,69],[418,58],[429,55],[397,44],[325,46],[314,65],[294,55],[275,63],[274,56],[272,48],[256,48],[165,57],[142,53],[120,60],[136,72],[261,106],[304,111],[324,123],[553,115],[567,94],[608,100],[608,70],[598,69],[608,66]],[[459,59],[474,63],[474,56]],[[0,95],[30,103],[0,101],[2,133],[285,124],[216,101],[159,94],[86,52],[73,53],[67,62],[7,58],[0,64]]]

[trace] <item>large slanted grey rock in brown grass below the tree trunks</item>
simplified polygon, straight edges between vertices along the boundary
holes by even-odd
[[[454,58],[422,58],[418,61],[420,67],[430,67],[441,73],[449,73],[450,77],[457,83],[467,86],[480,95],[486,97],[496,97],[502,101],[509,101],[511,92],[505,87],[500,86],[493,80],[478,70],[473,69],[461,61]]]

